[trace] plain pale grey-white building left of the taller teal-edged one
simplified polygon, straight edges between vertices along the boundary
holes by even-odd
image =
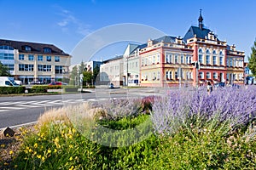
[[[114,86],[123,86],[124,59],[123,55],[103,61],[100,67],[100,81],[96,85],[113,83]]]

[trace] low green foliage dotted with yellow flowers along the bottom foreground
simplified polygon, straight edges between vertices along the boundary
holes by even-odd
[[[124,130],[147,120],[148,115],[140,115],[97,123]],[[18,169],[255,169],[255,136],[247,139],[248,128],[223,135],[225,130],[223,126],[180,127],[172,136],[151,134],[137,144],[108,147],[85,138],[70,122],[46,122],[38,131],[25,136],[11,166],[17,165]]]

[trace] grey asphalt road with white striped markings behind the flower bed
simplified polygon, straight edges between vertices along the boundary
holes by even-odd
[[[0,97],[0,128],[36,122],[38,117],[52,108],[81,102],[110,98],[142,97],[159,94],[154,88],[106,89],[99,88],[84,94]]]

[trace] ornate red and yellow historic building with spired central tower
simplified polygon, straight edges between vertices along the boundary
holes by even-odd
[[[147,46],[138,51],[141,86],[244,82],[244,52],[219,40],[203,25],[201,13],[198,21],[198,26],[190,26],[183,38],[149,39]]]

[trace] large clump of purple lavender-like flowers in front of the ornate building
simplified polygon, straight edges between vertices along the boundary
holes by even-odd
[[[154,102],[151,119],[160,134],[176,133],[180,127],[212,128],[225,124],[234,131],[256,116],[256,88],[218,88],[207,94],[198,90],[172,90]],[[227,132],[228,133],[228,132]]]

